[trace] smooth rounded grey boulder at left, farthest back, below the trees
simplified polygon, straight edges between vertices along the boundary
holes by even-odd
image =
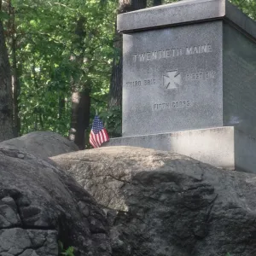
[[[33,131],[0,143],[0,148],[19,149],[42,159],[79,150],[75,143],[53,131]]]

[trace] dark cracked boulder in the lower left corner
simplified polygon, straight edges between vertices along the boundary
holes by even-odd
[[[0,255],[109,256],[108,222],[96,201],[49,161],[0,149]]]

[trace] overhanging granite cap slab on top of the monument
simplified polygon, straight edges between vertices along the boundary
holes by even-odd
[[[118,15],[119,32],[136,32],[201,20],[226,20],[256,38],[256,25],[228,0],[187,0]]]

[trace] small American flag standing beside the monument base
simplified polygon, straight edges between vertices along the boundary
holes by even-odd
[[[101,147],[102,143],[108,142],[109,137],[108,137],[108,132],[106,128],[104,128],[101,119],[96,115],[91,131],[90,131],[90,145],[93,148],[99,148]]]

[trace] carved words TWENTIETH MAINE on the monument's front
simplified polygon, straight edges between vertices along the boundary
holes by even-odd
[[[133,62],[154,61],[166,58],[179,57],[181,55],[195,55],[212,52],[212,44],[188,46],[185,48],[158,49],[143,53],[132,54]]]

